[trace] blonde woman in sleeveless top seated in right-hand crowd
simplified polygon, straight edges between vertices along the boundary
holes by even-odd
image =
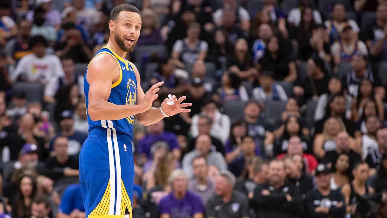
[[[346,131],[341,118],[331,117],[325,121],[322,134],[316,135],[313,142],[313,153],[318,159],[323,158],[325,152],[336,150],[334,139],[341,131]]]

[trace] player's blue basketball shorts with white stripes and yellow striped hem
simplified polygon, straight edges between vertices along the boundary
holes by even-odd
[[[93,129],[79,154],[79,180],[87,218],[132,218],[132,138],[115,129]]]

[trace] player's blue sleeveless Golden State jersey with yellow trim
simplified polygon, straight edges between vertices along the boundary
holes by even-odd
[[[111,85],[111,93],[108,102],[116,105],[135,105],[137,94],[137,79],[132,67],[132,63],[118,56],[109,47],[103,47],[94,57],[99,54],[109,54],[114,57],[117,64],[120,66],[120,77],[118,81]],[[111,73],[111,72],[106,72]],[[89,106],[89,83],[86,79],[87,69],[84,80],[84,91],[86,97],[86,112]],[[111,128],[119,133],[129,135],[133,139],[133,123],[134,116],[129,116],[125,119],[119,120],[98,120],[92,121],[89,114],[87,114],[87,123],[89,124],[89,132],[94,128]]]

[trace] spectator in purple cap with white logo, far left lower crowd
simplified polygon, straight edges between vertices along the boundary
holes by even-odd
[[[25,144],[18,151],[20,151],[20,153],[19,157],[17,158],[17,161],[10,162],[5,165],[5,169],[3,172],[3,178],[5,181],[10,181],[11,176],[14,175],[15,171],[19,169],[22,169],[24,167],[35,167],[38,165],[38,146],[36,146],[35,144]]]

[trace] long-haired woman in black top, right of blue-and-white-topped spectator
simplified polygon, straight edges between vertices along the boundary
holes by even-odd
[[[274,80],[294,82],[297,79],[296,64],[289,59],[286,49],[279,48],[278,38],[272,36],[267,42],[264,56],[258,61],[259,72],[273,71]]]

